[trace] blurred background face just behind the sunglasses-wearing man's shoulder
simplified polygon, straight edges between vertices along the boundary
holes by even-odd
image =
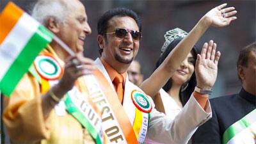
[[[130,67],[127,70],[129,81],[136,86],[140,86],[143,82],[143,74],[141,74],[141,65],[139,61],[133,60]]]

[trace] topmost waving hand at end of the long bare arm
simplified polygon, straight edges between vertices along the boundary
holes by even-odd
[[[203,18],[209,22],[210,26],[228,26],[232,20],[237,19],[237,17],[234,17],[237,11],[234,7],[224,8],[225,6],[227,6],[227,3],[212,8],[212,10],[207,12]]]

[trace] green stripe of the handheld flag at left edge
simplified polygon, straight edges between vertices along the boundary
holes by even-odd
[[[10,97],[21,77],[28,72],[28,68],[35,60],[35,57],[47,44],[49,44],[49,42],[51,42],[52,37],[53,35],[51,31],[44,28],[44,26],[38,27],[35,34],[30,38],[17,59],[13,61],[12,66],[0,82],[0,90],[4,95]]]

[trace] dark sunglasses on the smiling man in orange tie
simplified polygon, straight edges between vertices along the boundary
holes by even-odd
[[[124,38],[128,33],[131,33],[132,39],[136,41],[140,41],[142,36],[140,31],[135,31],[132,29],[116,29],[114,32],[105,33],[105,35],[112,34],[112,33],[115,33],[115,36],[117,38]]]

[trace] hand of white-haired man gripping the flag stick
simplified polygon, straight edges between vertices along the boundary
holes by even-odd
[[[66,61],[64,74],[59,86],[68,92],[73,88],[78,77],[92,74],[93,70],[95,70],[93,60],[79,55],[73,56]]]

